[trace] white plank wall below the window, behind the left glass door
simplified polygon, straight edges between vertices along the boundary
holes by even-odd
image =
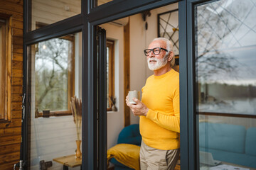
[[[73,116],[33,118],[31,121],[31,169],[39,169],[41,160],[53,162],[53,158],[74,154],[76,139]],[[53,169],[60,170],[63,166],[53,162],[49,170]]]

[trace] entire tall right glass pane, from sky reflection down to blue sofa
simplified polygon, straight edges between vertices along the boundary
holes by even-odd
[[[256,168],[256,6],[195,6],[196,112],[201,169]]]

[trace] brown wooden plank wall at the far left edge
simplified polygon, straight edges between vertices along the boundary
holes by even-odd
[[[0,169],[14,169],[21,144],[23,1],[0,0],[0,13],[11,16],[11,123],[0,123]]]

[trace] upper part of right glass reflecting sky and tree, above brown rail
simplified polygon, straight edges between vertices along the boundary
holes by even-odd
[[[198,111],[256,115],[256,16],[252,1],[196,7]]]

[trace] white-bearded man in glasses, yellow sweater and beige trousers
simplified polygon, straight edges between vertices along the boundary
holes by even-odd
[[[126,103],[134,115],[139,115],[142,146],[139,152],[142,170],[168,169],[176,166],[180,147],[179,74],[173,45],[166,38],[155,38],[144,50],[149,69],[154,74],[142,88],[142,101]]]

